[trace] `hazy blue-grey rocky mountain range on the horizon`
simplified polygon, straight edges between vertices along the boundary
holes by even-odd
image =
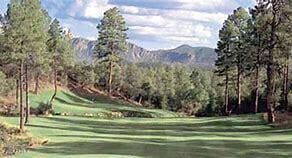
[[[92,61],[96,41],[74,38],[72,40],[76,59],[78,61]],[[192,47],[181,45],[175,49],[149,51],[133,43],[127,43],[128,51],[120,56],[130,62],[150,63],[159,62],[165,64],[189,64],[201,67],[214,67],[217,55],[213,48]]]

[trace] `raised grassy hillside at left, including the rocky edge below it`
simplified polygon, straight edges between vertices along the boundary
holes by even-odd
[[[47,103],[53,90],[43,91],[39,95],[30,95],[32,108],[36,109],[41,104]],[[81,96],[69,90],[60,90],[53,101],[55,114],[70,116],[91,116],[100,118],[111,117],[176,117],[177,114],[158,109],[148,109],[132,105],[121,100],[114,100],[108,96]]]

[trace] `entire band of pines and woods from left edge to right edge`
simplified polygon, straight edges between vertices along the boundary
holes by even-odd
[[[139,105],[196,116],[268,112],[291,107],[291,0],[259,0],[239,7],[219,33],[215,70],[181,64],[129,63],[127,26],[118,8],[97,29],[92,63],[77,63],[70,33],[41,8],[39,0],[14,0],[0,17],[0,93],[19,105],[20,129],[29,121],[29,93],[40,80],[54,88],[74,82],[107,91]],[[290,99],[290,101],[289,101]]]

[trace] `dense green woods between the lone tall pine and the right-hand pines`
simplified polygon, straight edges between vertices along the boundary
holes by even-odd
[[[185,66],[141,67],[124,64],[116,92],[144,106],[207,116],[214,114],[217,94],[212,72]],[[135,72],[135,73],[133,73]],[[212,95],[212,101],[210,101]]]

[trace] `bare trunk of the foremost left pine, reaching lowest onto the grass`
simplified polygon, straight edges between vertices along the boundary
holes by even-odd
[[[23,61],[20,61],[19,64],[19,117],[20,117],[20,122],[19,122],[19,128],[21,131],[24,129],[24,106],[23,106],[23,95],[22,95],[22,90],[23,90]]]

